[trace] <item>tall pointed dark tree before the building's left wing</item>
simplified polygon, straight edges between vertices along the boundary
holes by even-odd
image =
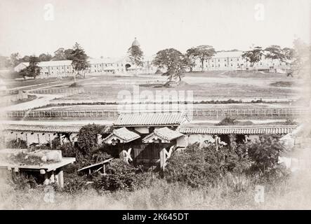
[[[81,75],[81,73],[83,73],[85,78],[86,69],[90,67],[90,64],[88,62],[88,55],[86,55],[84,49],[81,48],[77,42],[74,44],[70,59],[72,59],[72,67],[76,73],[74,80],[76,80],[77,75]]]

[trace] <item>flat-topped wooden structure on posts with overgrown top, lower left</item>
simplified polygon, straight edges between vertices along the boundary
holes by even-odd
[[[41,150],[41,153],[44,151]],[[49,150],[46,152],[48,153]],[[28,153],[27,149],[2,149],[0,150],[1,161],[0,169],[7,169],[9,172],[35,172],[44,178],[44,185],[49,183],[56,183],[60,188],[64,187],[64,176],[62,167],[72,164],[76,161],[75,158],[60,158],[55,162],[44,162],[40,165],[27,165],[22,162],[13,162],[12,160],[6,160],[11,155],[17,155],[18,153],[25,153],[26,155],[33,155],[36,151]]]

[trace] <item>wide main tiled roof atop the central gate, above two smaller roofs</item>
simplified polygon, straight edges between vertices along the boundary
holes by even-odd
[[[186,113],[122,113],[117,121],[116,126],[163,126],[163,125],[180,125],[189,122]]]

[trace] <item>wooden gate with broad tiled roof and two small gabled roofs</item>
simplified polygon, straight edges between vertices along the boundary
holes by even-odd
[[[183,137],[176,128],[189,121],[185,113],[124,113],[114,123],[116,129],[102,142],[114,145],[124,162],[147,166],[162,162],[160,167],[164,167],[170,152],[166,148],[172,152],[172,146]]]

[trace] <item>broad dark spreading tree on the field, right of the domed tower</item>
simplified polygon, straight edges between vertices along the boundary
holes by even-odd
[[[178,78],[179,81],[181,80],[181,76],[185,73],[185,68],[189,66],[186,58],[180,51],[169,48],[157,52],[153,64],[161,69],[166,69],[163,76],[168,76],[169,83],[175,78]]]

